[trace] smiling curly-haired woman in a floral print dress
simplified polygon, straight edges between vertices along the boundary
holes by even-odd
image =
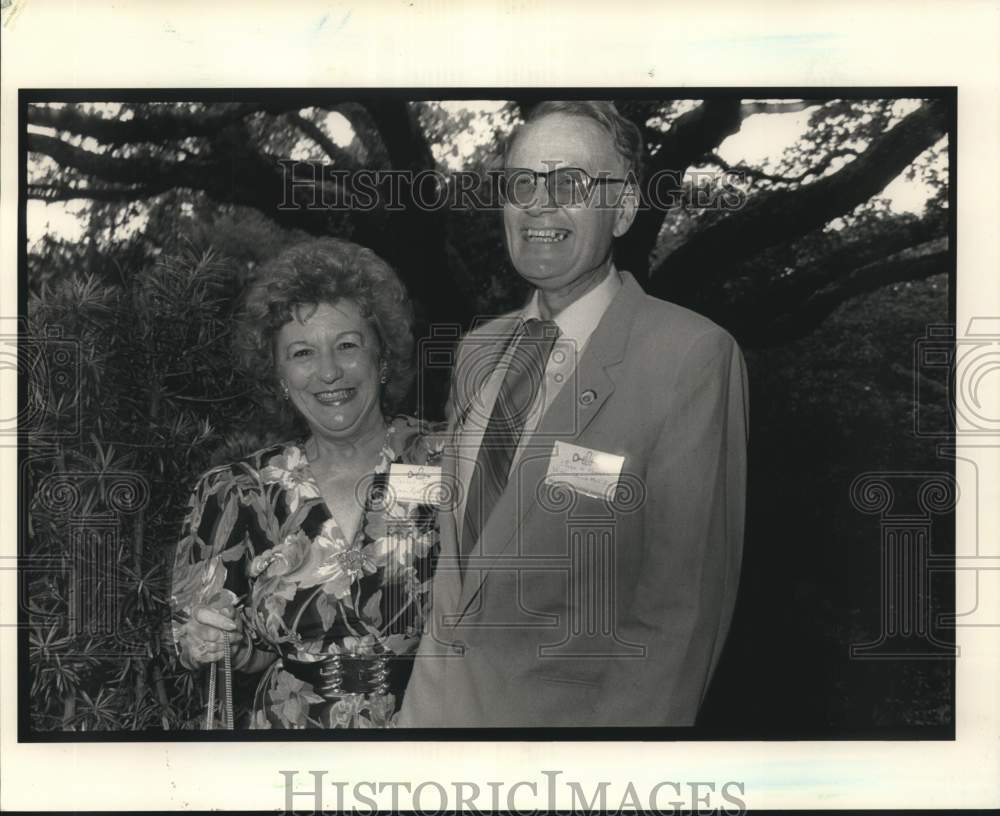
[[[437,554],[431,507],[386,487],[391,464],[440,454],[387,420],[411,314],[389,266],[337,239],[285,251],[249,292],[244,362],[304,432],[201,478],[171,600],[184,665],[260,673],[250,727],[385,727],[399,708]]]

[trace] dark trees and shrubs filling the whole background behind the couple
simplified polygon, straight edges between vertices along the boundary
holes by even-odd
[[[280,161],[293,154],[346,170],[490,167],[531,100],[486,113],[387,95],[319,102],[26,109],[29,199],[87,203],[83,237],[44,234],[23,280],[32,410],[22,532],[32,557],[58,567],[27,575],[32,731],[197,724],[200,684],[168,648],[169,563],[197,475],[280,433],[270,396],[230,348],[256,267],[309,235],[363,243],[403,277],[423,337],[523,297],[496,212],[277,204]],[[947,426],[946,388],[913,360],[927,327],[949,319],[948,104],[713,94],[620,107],[643,131],[647,173],[682,179],[682,206],[645,210],[616,247],[619,265],[729,329],[750,370],[745,570],[703,723],[759,737],[951,724],[950,661],[848,651],[877,636],[882,591],[879,522],[852,506],[852,480],[951,468],[935,440],[913,433],[918,380],[932,396],[924,419]],[[808,112],[804,135],[761,166],[719,155],[751,117],[796,111]],[[349,143],[331,137],[331,113],[350,123]],[[463,134],[476,136],[471,149],[459,149]],[[691,169],[712,172],[699,181],[684,176]],[[698,186],[723,170],[745,174],[745,205],[696,206]],[[904,174],[929,190],[919,215],[880,195]],[[60,350],[75,362],[60,368]],[[429,372],[412,409],[439,417],[445,384],[445,371]],[[143,497],[124,512],[114,495],[123,479],[138,480]],[[72,507],[53,500],[55,483],[72,485]],[[946,553],[953,532],[939,521],[933,546]],[[84,581],[79,542],[102,530],[114,558]],[[935,589],[935,610],[947,610],[949,587]],[[113,626],[85,614],[95,592]]]

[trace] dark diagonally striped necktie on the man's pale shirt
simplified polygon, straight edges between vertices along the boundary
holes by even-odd
[[[493,404],[469,483],[462,534],[463,555],[468,554],[479,539],[497,499],[507,486],[514,452],[558,336],[559,328],[551,320],[532,318],[524,323],[520,335],[515,338],[510,366]]]

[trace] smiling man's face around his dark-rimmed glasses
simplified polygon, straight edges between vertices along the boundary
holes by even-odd
[[[527,125],[507,157],[507,169],[548,172],[579,167],[592,177],[624,178],[625,167],[611,136],[596,122],[551,114]],[[621,184],[595,188],[589,203],[559,207],[539,182],[538,195],[527,202],[504,205],[507,250],[518,274],[543,291],[585,291],[607,273],[612,239],[624,235],[635,217],[631,204],[613,204]],[[631,199],[630,199],[631,201]]]

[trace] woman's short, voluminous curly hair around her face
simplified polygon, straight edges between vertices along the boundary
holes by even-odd
[[[413,308],[402,281],[366,247],[340,238],[303,241],[263,264],[238,318],[236,350],[247,372],[277,393],[274,341],[301,307],[354,301],[378,336],[387,382],[382,410],[396,412],[413,381]]]

